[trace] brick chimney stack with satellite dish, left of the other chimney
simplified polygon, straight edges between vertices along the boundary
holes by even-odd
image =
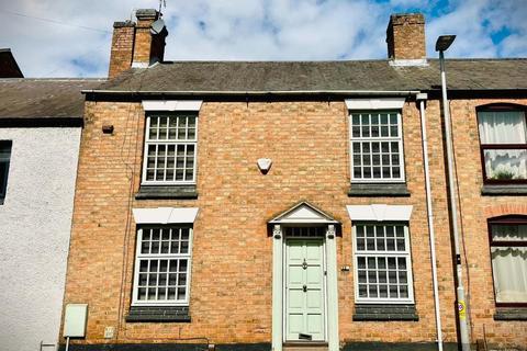
[[[135,16],[137,23],[125,21],[113,24],[109,78],[114,78],[131,67],[146,68],[164,59],[168,32],[166,29],[160,33],[152,31],[152,24],[159,19],[159,12],[143,9],[137,10]]]

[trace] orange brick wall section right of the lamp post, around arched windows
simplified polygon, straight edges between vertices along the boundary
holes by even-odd
[[[527,196],[482,196],[483,173],[479,148],[475,107],[494,102],[527,104],[527,100],[459,100],[451,102],[453,143],[459,180],[459,211],[467,249],[467,270],[463,273],[470,302],[473,339],[497,344],[527,344],[527,322],[494,320],[494,290],[486,219],[527,214]],[[463,262],[464,264],[466,262]],[[470,281],[470,284],[469,284]]]

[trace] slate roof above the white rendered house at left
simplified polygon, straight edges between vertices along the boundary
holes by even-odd
[[[0,120],[82,118],[83,89],[100,79],[0,79]]]

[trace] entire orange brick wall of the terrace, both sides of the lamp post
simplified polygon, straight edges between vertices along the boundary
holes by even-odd
[[[474,106],[452,102],[463,233],[470,268],[473,336],[522,344],[525,322],[493,321],[485,213],[518,197],[479,195],[481,165]],[[446,341],[456,340],[456,305],[439,103],[427,109],[439,293]],[[199,115],[197,200],[136,201],[143,154],[139,103],[88,102],[81,141],[65,303],[88,303],[87,343],[175,342],[206,337],[213,343],[270,342],[272,215],[306,200],[343,223],[337,267],[351,265],[350,204],[412,204],[414,291],[419,321],[354,322],[354,274],[338,272],[341,341],[436,340],[431,269],[415,103],[403,110],[406,179],[411,197],[348,197],[349,143],[344,102],[205,102]],[[113,135],[103,135],[113,124]],[[273,160],[261,174],[256,160]],[[461,166],[463,165],[463,166]],[[197,206],[190,324],[125,322],[135,250],[133,207]],[[467,274],[464,275],[467,278]],[[472,296],[473,295],[473,296]],[[103,339],[104,327],[117,340]],[[194,340],[195,341],[195,340]]]

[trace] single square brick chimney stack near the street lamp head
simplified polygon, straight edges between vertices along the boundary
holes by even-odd
[[[390,16],[386,29],[388,58],[394,64],[426,64],[425,18],[422,13]]]

